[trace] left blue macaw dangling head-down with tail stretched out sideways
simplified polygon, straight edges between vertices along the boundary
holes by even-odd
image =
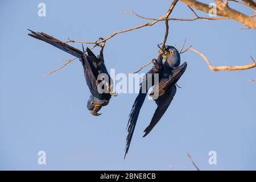
[[[96,115],[96,116],[101,115],[100,113],[98,113],[101,107],[108,105],[110,98],[112,96],[116,96],[116,94],[112,92],[113,90],[113,85],[111,85],[112,81],[104,63],[103,49],[105,46],[105,42],[101,46],[100,55],[96,57],[94,53],[90,51],[89,48],[86,48],[86,52],[87,52],[87,55],[86,55],[84,51],[84,47],[83,47],[83,51],[80,51],[79,49],[69,46],[68,44],[65,44],[60,40],[55,39],[52,36],[49,36],[43,32],[39,33],[39,32],[31,31],[31,34],[28,34],[28,35],[32,36],[33,38],[43,40],[48,44],[52,44],[52,46],[55,46],[67,53],[70,53],[71,55],[77,57],[81,61],[82,67],[84,68],[86,84],[89,87],[90,93],[92,93],[92,95],[90,95],[89,100],[87,102],[87,109],[93,115]],[[102,90],[104,90],[105,85],[108,85],[107,86],[108,88],[106,88],[108,92],[98,92],[97,86],[98,84],[100,84],[101,81],[104,80],[104,79],[98,80],[98,75],[100,75],[100,73],[105,73],[104,75],[108,76],[108,83],[102,84],[103,85]]]

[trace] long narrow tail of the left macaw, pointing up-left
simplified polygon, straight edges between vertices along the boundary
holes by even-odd
[[[29,29],[28,29],[29,30]],[[58,39],[53,38],[52,36],[45,34],[43,32],[39,33],[39,32],[34,32],[32,30],[31,31],[30,36],[32,36],[35,39],[39,39],[39,40],[43,40],[44,42],[48,43],[48,44],[52,44],[52,46],[55,46],[67,53],[70,53],[71,55],[81,59],[81,56],[84,55],[84,53],[82,51],[80,51],[79,49],[76,49],[75,47],[69,46],[68,44],[61,42]]]

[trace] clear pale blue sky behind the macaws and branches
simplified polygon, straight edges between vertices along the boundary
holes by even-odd
[[[46,3],[46,17],[38,4]],[[205,1],[213,2],[213,1]],[[61,40],[96,41],[112,32],[150,22],[120,10],[159,18],[171,1],[1,1],[0,2],[0,169],[256,169],[256,69],[211,72],[195,52],[181,55],[187,71],[158,125],[142,138],[156,105],[146,100],[131,147],[123,161],[126,125],[137,94],[119,94],[100,117],[86,109],[89,89],[79,61],[44,76],[72,56],[27,35],[27,28]],[[231,4],[231,3],[230,3]],[[239,10],[253,14],[241,5]],[[199,15],[208,16],[200,13]],[[182,2],[173,18],[193,18]],[[213,65],[243,65],[255,55],[255,30],[241,30],[234,20],[170,22],[167,44],[184,38]],[[105,63],[116,73],[130,73],[158,54],[164,22],[119,34],[106,43]],[[72,44],[81,48],[80,44]],[[90,46],[90,45],[89,45]],[[98,49],[94,49],[98,53]],[[146,72],[150,67],[143,70]],[[47,164],[38,164],[38,151]],[[217,152],[209,165],[208,152]]]

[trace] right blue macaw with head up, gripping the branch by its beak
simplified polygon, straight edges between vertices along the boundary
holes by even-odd
[[[165,59],[164,63],[163,56]],[[152,85],[156,84],[156,81],[154,81],[154,74],[159,74],[158,86],[155,86],[150,93],[150,96],[158,95],[157,98],[153,98],[158,107],[155,110],[150,125],[148,125],[144,130],[143,137],[146,137],[146,135],[148,135],[148,133],[150,133],[154,128],[156,123],[160,121],[168,106],[171,104],[176,93],[176,82],[180,79],[187,68],[186,62],[180,65],[180,53],[175,47],[166,46],[163,56],[159,55],[158,58],[154,60],[154,67],[152,67],[152,69],[147,72],[146,76],[143,78],[141,89],[134,101],[129,115],[129,122],[127,123],[128,135],[126,138],[125,156],[130,147],[131,138],[133,137],[134,129],[139,117],[139,111],[141,110],[148,92],[148,86],[146,86],[146,92],[142,92],[142,85],[146,85],[148,79],[152,79]],[[143,84],[143,82],[146,82],[146,84]],[[158,93],[156,94],[155,92]]]

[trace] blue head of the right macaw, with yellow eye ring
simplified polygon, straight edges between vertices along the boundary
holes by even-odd
[[[180,53],[173,46],[166,46],[164,51],[164,67],[178,67],[180,65]]]

